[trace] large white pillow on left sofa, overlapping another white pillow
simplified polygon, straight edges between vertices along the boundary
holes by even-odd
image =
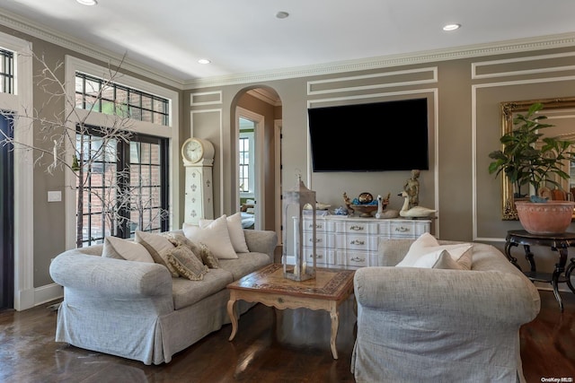
[[[227,231],[226,215],[222,215],[203,228],[184,222],[182,230],[188,239],[192,242],[204,243],[219,259],[237,258]]]

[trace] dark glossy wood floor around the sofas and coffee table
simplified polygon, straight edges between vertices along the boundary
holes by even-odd
[[[541,292],[539,316],[521,329],[527,382],[575,379],[575,295]],[[353,382],[349,372],[355,316],[350,301],[341,308],[338,352],[330,352],[330,318],[306,309],[276,311],[257,305],[231,326],[174,355],[146,366],[54,342],[57,313],[48,305],[0,313],[0,382]],[[503,313],[502,313],[503,314]],[[296,331],[300,328],[301,332]]]

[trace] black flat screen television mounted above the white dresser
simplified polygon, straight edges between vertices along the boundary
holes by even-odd
[[[307,115],[315,172],[429,170],[427,99],[311,108]]]

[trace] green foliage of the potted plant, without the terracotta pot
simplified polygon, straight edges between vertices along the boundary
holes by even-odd
[[[539,188],[546,184],[561,187],[556,178],[550,176],[570,178],[563,170],[563,163],[575,161],[575,152],[571,152],[575,142],[544,136],[541,130],[553,125],[541,122],[546,117],[537,112],[543,107],[542,103],[536,102],[525,115],[517,114],[513,119],[513,130],[500,138],[503,150],[489,153],[493,160],[489,165],[490,174],[495,173],[497,177],[501,172],[505,173],[515,185],[516,196],[524,196],[521,194],[523,185],[533,186],[535,196],[538,196]]]

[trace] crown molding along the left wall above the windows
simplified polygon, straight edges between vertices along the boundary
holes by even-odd
[[[0,24],[8,28],[12,28],[13,30],[26,33],[37,39],[42,39],[52,44],[56,44],[62,48],[74,50],[75,52],[88,57],[101,60],[105,63],[111,63],[112,65],[119,65],[119,63],[121,63],[121,67],[127,71],[142,74],[149,79],[164,83],[168,86],[173,86],[179,90],[183,89],[184,83],[182,80],[171,74],[163,73],[155,68],[143,65],[135,60],[131,60],[129,57],[124,57],[123,55],[119,55],[111,50],[88,44],[85,41],[75,39],[74,37],[65,35],[62,32],[50,30],[44,25],[31,22],[31,20],[22,18],[21,16],[10,13],[4,9],[2,9],[2,13],[0,13]]]

